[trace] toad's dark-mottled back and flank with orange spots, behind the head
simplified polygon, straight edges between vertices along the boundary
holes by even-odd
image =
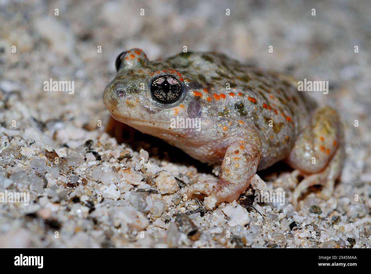
[[[315,108],[284,76],[242,65],[220,53],[181,53],[164,63],[187,75],[188,94],[202,106],[202,117],[225,117],[255,128],[262,141],[259,169],[289,154]]]

